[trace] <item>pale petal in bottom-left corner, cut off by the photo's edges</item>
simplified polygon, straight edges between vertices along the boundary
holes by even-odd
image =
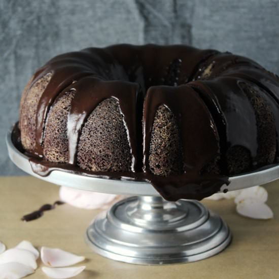
[[[0,279],[18,279],[32,274],[34,269],[18,262],[0,264]]]

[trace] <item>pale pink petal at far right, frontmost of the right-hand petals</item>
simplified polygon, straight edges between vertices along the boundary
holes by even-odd
[[[238,214],[253,219],[271,219],[273,213],[266,203],[254,199],[245,199],[236,204]]]

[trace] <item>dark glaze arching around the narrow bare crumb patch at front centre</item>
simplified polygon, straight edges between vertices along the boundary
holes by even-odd
[[[219,155],[219,137],[203,101],[187,85],[177,88],[157,86],[148,90],[144,108],[144,170],[149,169],[151,128],[161,104],[173,112],[181,131],[184,173],[198,176],[205,164]]]

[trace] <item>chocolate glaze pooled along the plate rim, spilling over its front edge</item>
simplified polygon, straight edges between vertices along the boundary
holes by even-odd
[[[161,177],[152,175],[150,172],[92,172],[70,164],[61,165],[46,161],[42,162],[38,158],[30,158],[29,162],[32,170],[43,177],[48,176],[53,170],[60,170],[94,178],[149,182],[166,200],[173,201],[181,198],[201,200],[218,192],[222,185],[229,185],[229,180],[226,176],[214,174],[204,174],[197,178],[196,174],[192,172]]]

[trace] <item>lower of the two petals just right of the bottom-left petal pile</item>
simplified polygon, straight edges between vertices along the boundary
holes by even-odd
[[[63,278],[71,278],[80,274],[86,266],[77,266],[77,267],[46,267],[43,266],[42,270],[46,273],[50,278],[54,279],[63,279]]]

